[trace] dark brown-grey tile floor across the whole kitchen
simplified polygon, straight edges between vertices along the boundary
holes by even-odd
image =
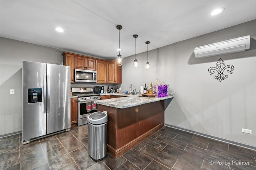
[[[100,162],[88,156],[87,125],[26,145],[21,139],[0,139],[0,170],[256,170],[256,151],[170,127]]]

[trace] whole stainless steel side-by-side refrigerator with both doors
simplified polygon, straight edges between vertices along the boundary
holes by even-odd
[[[22,61],[22,143],[70,130],[70,66]]]

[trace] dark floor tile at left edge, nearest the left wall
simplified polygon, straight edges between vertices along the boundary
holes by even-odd
[[[0,153],[6,152],[8,150],[17,149],[20,147],[20,138],[1,140],[0,141]]]

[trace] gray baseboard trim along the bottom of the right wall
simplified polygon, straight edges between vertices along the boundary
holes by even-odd
[[[215,137],[215,136],[212,136],[212,135],[207,135],[207,134],[196,132],[196,131],[191,131],[189,129],[185,129],[185,128],[174,126],[174,125],[169,125],[169,124],[166,124],[166,123],[165,123],[165,126],[172,127],[174,129],[179,129],[179,130],[186,131],[186,132],[190,132],[190,133],[194,133],[196,135],[208,137],[208,138],[211,138],[211,139],[215,139],[217,141],[221,141],[221,142],[225,142],[225,143],[230,143],[232,145],[236,145],[236,146],[239,146],[239,147],[243,147],[243,148],[247,148],[247,149],[251,149],[251,150],[256,150],[256,147],[251,146],[251,145],[246,145],[244,143],[239,143],[239,142],[231,141],[231,140],[220,138],[220,137]]]

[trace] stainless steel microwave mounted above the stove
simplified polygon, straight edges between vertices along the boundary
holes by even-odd
[[[75,69],[75,82],[97,82],[97,71]]]

